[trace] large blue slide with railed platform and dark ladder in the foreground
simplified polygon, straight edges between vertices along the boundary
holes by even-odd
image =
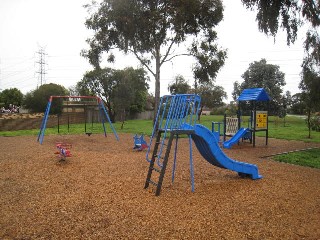
[[[174,181],[179,135],[189,138],[191,189],[194,191],[192,140],[200,154],[210,164],[235,171],[241,177],[260,179],[258,167],[227,157],[219,147],[219,139],[203,125],[196,124],[201,98],[195,94],[166,95],[160,99],[156,121],[150,138],[146,159],[150,163],[144,188],[150,184],[160,195],[170,150],[175,140],[172,182]],[[151,154],[150,154],[151,153]],[[150,157],[151,155],[151,157]]]

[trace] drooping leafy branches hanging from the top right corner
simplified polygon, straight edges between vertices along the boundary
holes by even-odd
[[[260,31],[275,37],[279,28],[287,32],[287,44],[297,39],[298,29],[308,24],[305,38],[305,52],[308,58],[320,66],[320,1],[287,0],[242,0],[249,9],[257,8],[257,22]]]

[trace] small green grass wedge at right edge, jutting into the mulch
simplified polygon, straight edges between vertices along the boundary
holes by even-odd
[[[319,148],[278,155],[273,157],[273,159],[279,162],[320,169]]]

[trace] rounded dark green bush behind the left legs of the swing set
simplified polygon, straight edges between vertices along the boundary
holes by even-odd
[[[43,84],[38,89],[28,92],[25,95],[23,105],[32,112],[44,112],[50,96],[65,96],[69,92],[61,85],[49,83]],[[63,99],[52,101],[50,113],[59,114],[62,112]]]

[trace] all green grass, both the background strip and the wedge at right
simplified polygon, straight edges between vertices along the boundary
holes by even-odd
[[[244,117],[243,127],[248,126],[248,117]],[[296,116],[286,117],[286,122],[283,119],[278,119],[275,117],[269,117],[269,137],[287,140],[298,140],[304,142],[317,142],[320,143],[320,133],[311,132],[311,139],[308,136],[308,128],[304,119]],[[223,116],[201,116],[200,124],[211,129],[212,122],[223,122]],[[152,120],[129,120],[125,121],[123,129],[121,129],[121,122],[116,122],[113,126],[116,132],[119,133],[132,133],[132,134],[145,134],[151,135],[153,129]],[[112,134],[109,123],[106,123],[106,130],[108,134]],[[39,126],[40,127],[40,126]],[[217,129],[216,129],[217,130]],[[60,126],[60,134],[84,134],[85,128],[84,124],[72,124],[69,127],[67,125]],[[103,128],[101,123],[95,123],[93,125],[87,124],[86,132],[92,133],[103,133]],[[221,125],[221,133],[223,132],[223,127]],[[23,135],[38,135],[39,129],[32,130],[18,130],[18,131],[1,131],[0,136],[23,136]],[[58,128],[47,128],[45,135],[55,135],[58,134]],[[258,132],[258,136],[265,136],[265,132]],[[320,168],[320,150],[313,149],[310,151],[301,151],[296,153],[290,153],[285,155],[279,155],[274,157],[276,161],[283,161],[292,164],[308,166],[313,168]]]

